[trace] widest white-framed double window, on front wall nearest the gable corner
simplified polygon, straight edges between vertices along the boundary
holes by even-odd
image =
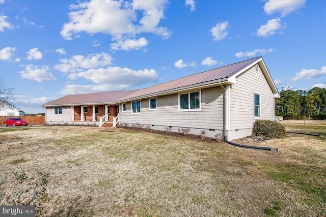
[[[200,110],[200,91],[179,95],[179,111]]]

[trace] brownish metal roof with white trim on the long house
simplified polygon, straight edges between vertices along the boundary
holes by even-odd
[[[233,78],[242,73],[244,70],[252,67],[253,64],[259,63],[265,78],[270,85],[273,93],[278,92],[269,72],[265,66],[262,56],[254,57],[251,59],[243,60],[235,64],[227,65],[224,67],[212,69],[209,71],[189,75],[176,80],[168,81],[165,83],[150,86],[139,90],[125,90],[115,92],[101,92],[97,94],[80,94],[69,95],[58,100],[45,103],[42,106],[54,105],[94,105],[94,104],[113,104],[115,102],[126,102],[128,100],[139,99],[143,97],[150,97],[154,95],[169,94],[173,91],[179,91],[189,87],[200,87],[204,85],[216,85],[221,82],[231,82]],[[231,82],[232,83],[232,82]]]

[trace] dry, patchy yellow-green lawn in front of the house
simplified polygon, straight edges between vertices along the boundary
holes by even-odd
[[[235,142],[279,152],[121,128],[0,128],[0,205],[33,204],[37,216],[326,215],[325,137]]]

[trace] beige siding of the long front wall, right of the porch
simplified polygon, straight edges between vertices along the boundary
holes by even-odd
[[[192,90],[191,92],[198,91]],[[137,123],[141,125],[159,125],[183,128],[202,128],[223,130],[223,97],[221,87],[211,87],[201,90],[200,111],[178,111],[178,94],[156,98],[156,110],[149,110],[149,100],[141,100],[141,114],[131,114],[131,102],[127,102],[127,111],[121,112],[122,123]],[[121,106],[120,106],[121,108]]]

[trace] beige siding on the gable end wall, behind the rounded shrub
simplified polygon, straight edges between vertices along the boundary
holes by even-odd
[[[254,93],[260,94],[260,118],[274,120],[274,96],[260,68],[255,67],[236,78],[230,89],[230,130],[252,128]]]

